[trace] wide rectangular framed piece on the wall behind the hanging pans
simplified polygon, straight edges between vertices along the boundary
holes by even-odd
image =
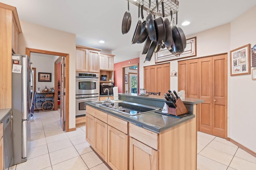
[[[180,55],[180,57],[176,57],[175,55],[170,53],[167,48],[160,49],[158,53],[155,53],[155,63],[196,56],[196,37],[186,39],[186,43],[186,48],[184,49],[184,52]]]

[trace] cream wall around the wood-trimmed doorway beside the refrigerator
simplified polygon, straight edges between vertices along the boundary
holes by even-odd
[[[18,37],[18,52],[26,53],[26,47],[69,54],[69,128],[76,127],[75,73],[76,35],[20,20],[22,33]]]

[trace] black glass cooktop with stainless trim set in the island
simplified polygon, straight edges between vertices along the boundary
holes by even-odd
[[[131,115],[131,116],[148,113],[148,112],[156,111],[160,109],[159,107],[147,106],[147,105],[136,104],[131,102],[120,102],[120,103],[108,103],[106,101],[99,101],[99,102],[103,102],[102,104],[99,104],[99,105],[104,108],[108,108],[114,111],[118,111],[120,113]]]

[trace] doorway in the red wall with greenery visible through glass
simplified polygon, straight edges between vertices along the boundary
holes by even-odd
[[[122,92],[137,93],[139,87],[138,63],[122,66]]]

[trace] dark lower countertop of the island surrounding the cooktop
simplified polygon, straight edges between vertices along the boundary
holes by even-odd
[[[93,102],[86,102],[86,104],[100,111],[104,111],[110,115],[114,115],[120,119],[124,119],[126,121],[129,121],[131,123],[134,123],[136,125],[139,125],[145,129],[148,129],[156,133],[160,133],[161,131],[169,129],[170,127],[176,126],[180,123],[183,123],[195,117],[195,115],[192,114],[183,118],[176,118],[176,117],[163,115],[155,112],[149,112],[149,113],[144,113],[140,115],[130,116],[130,115],[120,113],[118,111],[114,111],[112,109],[107,109],[98,104],[94,104]]]

